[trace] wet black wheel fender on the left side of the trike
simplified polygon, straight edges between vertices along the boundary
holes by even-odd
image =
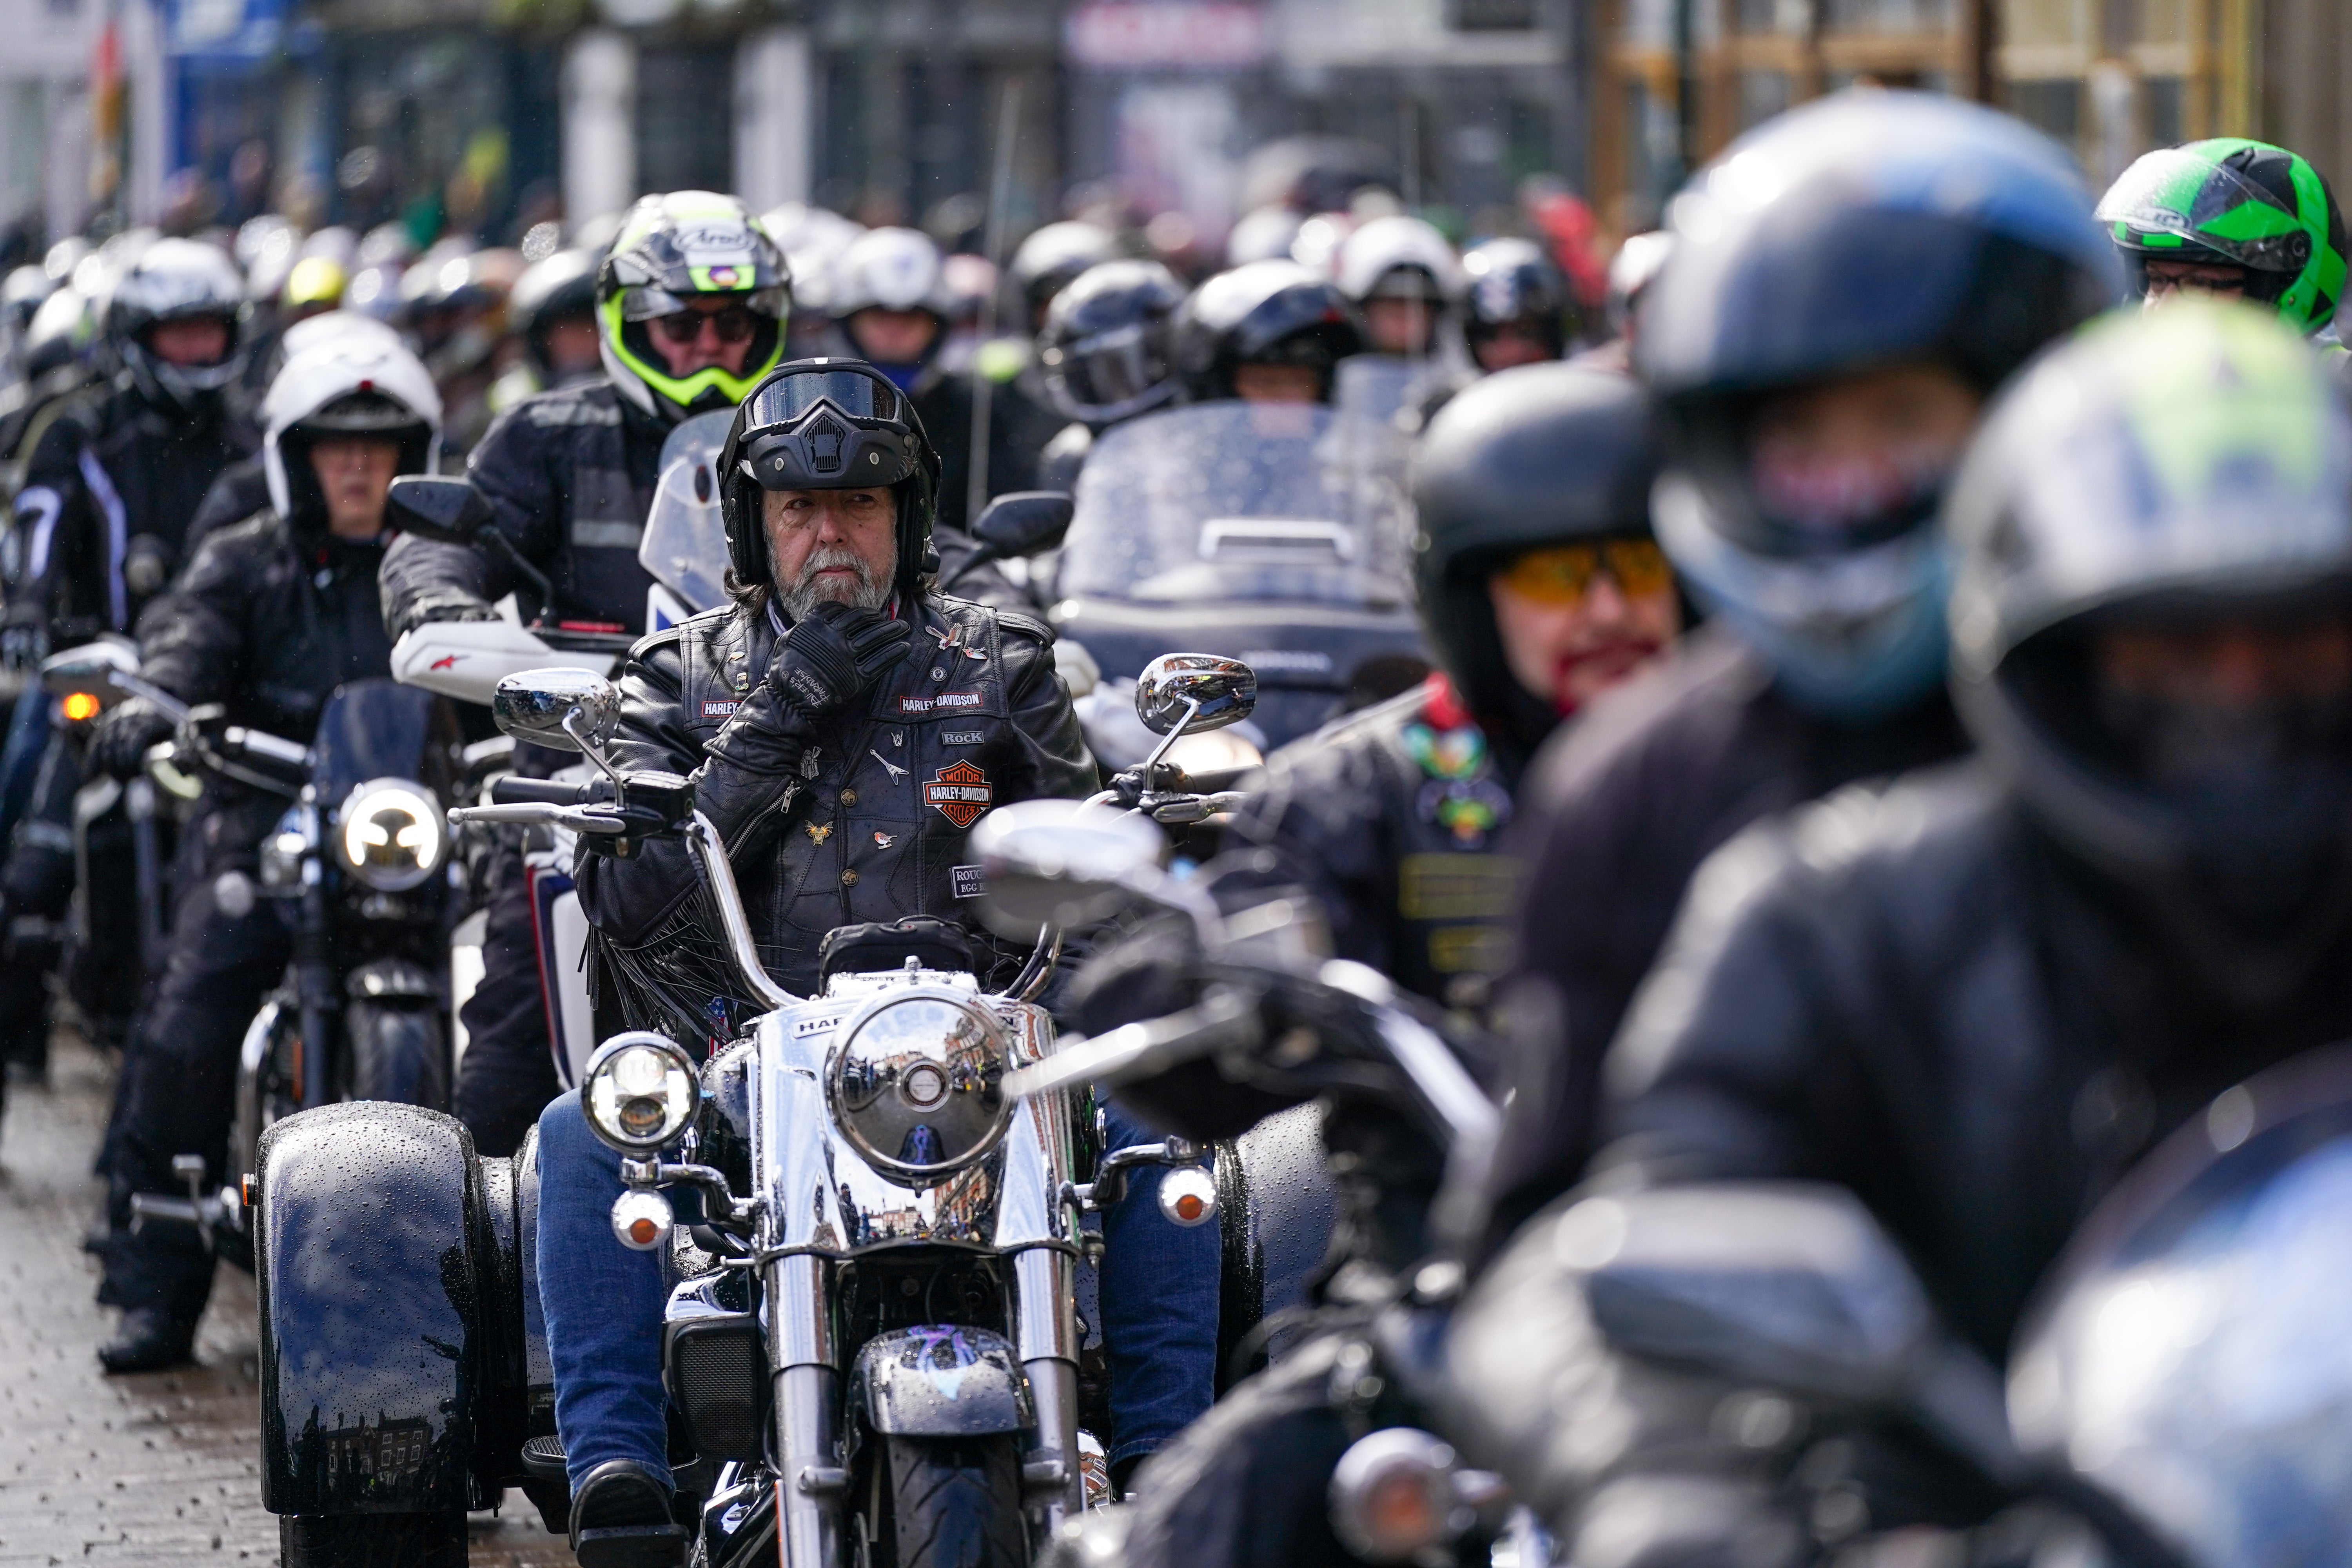
[[[414,1105],[322,1105],[263,1135],[256,1178],[261,1505],[487,1507],[475,1401],[499,1269],[473,1138]]]

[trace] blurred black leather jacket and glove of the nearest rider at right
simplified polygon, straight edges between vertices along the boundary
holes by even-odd
[[[1611,1143],[1583,1192],[1842,1185],[1940,1324],[2002,1366],[2037,1284],[2136,1157],[2223,1088],[2352,1034],[2352,929],[2338,922],[2263,1006],[2225,990],[2213,954],[2063,853],[1980,764],[1844,790],[1759,823],[1691,882],[1609,1053]],[[1623,1542],[1621,1561],[1750,1561],[1729,1542],[1802,1521],[1802,1493],[1846,1472],[1870,1528],[2004,1505],[1962,1467],[1900,1462],[1877,1439],[1835,1465],[1799,1453],[1837,1432],[1837,1410],[1743,1441],[1722,1413],[1755,1373],[1597,1342],[1552,1213],[1458,1316],[1463,1345],[1508,1352],[1454,1368],[1470,1448],[1564,1540],[1637,1526],[1653,1549]],[[1564,1410],[1606,1441],[1562,1439]],[[1679,1519],[1625,1512],[1658,1488]]]

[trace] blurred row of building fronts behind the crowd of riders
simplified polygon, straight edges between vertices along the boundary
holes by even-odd
[[[1529,176],[1656,221],[1757,120],[1877,80],[2067,141],[2263,134],[2352,169],[2343,0],[0,0],[0,223],[402,219],[510,240],[640,190],[976,242],[1075,207],[1214,254],[1247,155],[1364,148],[1494,230]],[[1009,139],[1007,139],[1009,136]],[[1000,158],[1002,153],[1002,158]],[[1000,174],[1002,165],[1002,174]],[[1261,181],[1263,183],[1263,181]],[[1178,247],[1181,249],[1181,247]]]

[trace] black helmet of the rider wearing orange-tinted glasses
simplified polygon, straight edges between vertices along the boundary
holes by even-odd
[[[1559,724],[1503,658],[1486,581],[1524,550],[1651,538],[1658,421],[1628,376],[1522,364],[1468,386],[1414,449],[1414,585],[1437,663],[1498,759]]]

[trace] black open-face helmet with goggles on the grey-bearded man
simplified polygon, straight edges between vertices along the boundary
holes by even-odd
[[[938,571],[931,517],[938,451],[915,407],[866,360],[793,360],[736,404],[720,449],[720,512],[736,583],[767,585],[767,522],[760,491],[863,489],[898,494],[898,576],[910,597]]]

